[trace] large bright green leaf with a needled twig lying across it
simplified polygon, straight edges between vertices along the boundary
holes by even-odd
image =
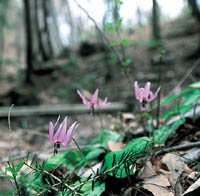
[[[131,140],[127,146],[115,152],[110,152],[105,156],[105,162],[101,172],[104,173],[113,169],[108,174],[116,178],[124,178],[127,175],[133,175],[133,165],[138,158],[148,154],[152,142],[148,137],[141,137]]]

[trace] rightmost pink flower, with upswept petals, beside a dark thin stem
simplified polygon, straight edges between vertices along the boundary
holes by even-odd
[[[158,96],[160,87],[157,89],[155,94],[150,90],[151,83],[147,82],[144,88],[139,88],[137,81],[135,81],[135,97],[140,102],[141,111],[147,109],[147,103],[152,102]]]

